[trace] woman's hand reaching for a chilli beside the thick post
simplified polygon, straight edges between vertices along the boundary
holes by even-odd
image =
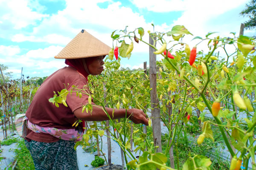
[[[148,126],[148,118],[146,117],[146,114],[140,109],[129,109],[128,117],[135,124],[143,123],[144,125]]]

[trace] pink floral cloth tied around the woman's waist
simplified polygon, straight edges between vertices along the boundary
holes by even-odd
[[[66,141],[81,141],[83,137],[82,130],[78,129],[57,129],[55,127],[41,127],[29,122],[29,119],[25,117],[23,121],[26,120],[26,126],[35,133],[48,133],[55,136],[58,139],[63,139]]]

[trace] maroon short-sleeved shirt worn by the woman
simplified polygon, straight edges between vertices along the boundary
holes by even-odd
[[[59,104],[59,108],[57,108],[52,102],[49,102],[49,98],[53,97],[53,91],[58,94],[58,91],[61,92],[65,85],[68,91],[71,90],[72,85],[82,89],[84,85],[87,85],[87,79],[71,66],[61,68],[50,75],[38,88],[26,111],[26,117],[31,123],[41,127],[55,127],[58,129],[75,128],[72,125],[76,122],[77,118],[73,112],[87,104],[88,96],[82,94],[82,97],[79,98],[79,96],[76,96],[76,93],[72,93],[72,95],[69,93],[66,99],[68,107]],[[90,94],[88,89],[87,93]],[[86,112],[84,113],[86,114]],[[26,138],[47,143],[59,140],[48,133],[35,133],[29,129],[27,129]]]

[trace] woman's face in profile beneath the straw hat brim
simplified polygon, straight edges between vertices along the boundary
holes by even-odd
[[[104,70],[103,56],[85,58],[87,68],[92,75],[99,75]]]

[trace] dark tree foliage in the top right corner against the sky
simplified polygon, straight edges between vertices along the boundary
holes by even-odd
[[[249,17],[249,20],[244,23],[245,29],[256,28],[256,0],[251,0],[249,4],[246,4],[246,8],[240,12],[240,15]]]

